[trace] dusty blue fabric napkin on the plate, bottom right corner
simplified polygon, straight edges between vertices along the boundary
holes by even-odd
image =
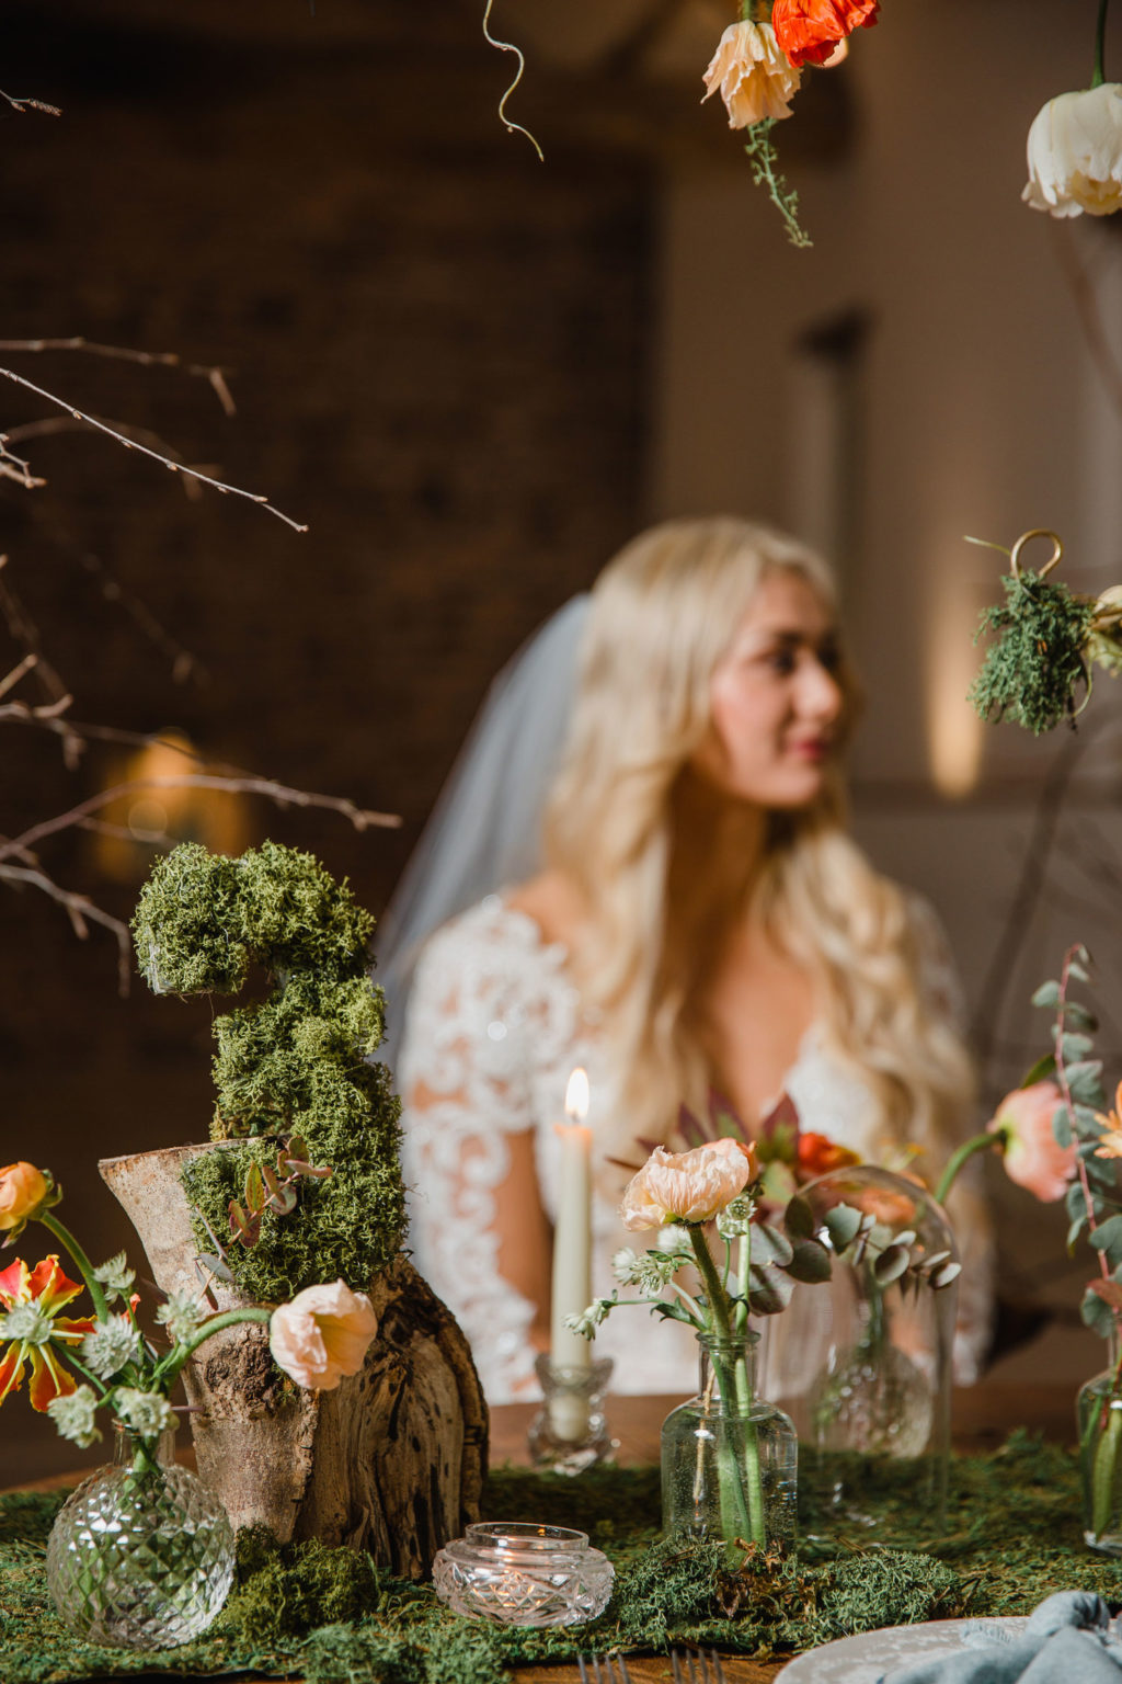
[[[979,1633],[981,1635],[981,1633]],[[881,1684],[1122,1684],[1122,1642],[1102,1596],[1061,1590],[1011,1642],[979,1642],[885,1674]]]

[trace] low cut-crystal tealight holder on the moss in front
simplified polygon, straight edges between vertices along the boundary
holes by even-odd
[[[500,1625],[582,1625],[607,1607],[614,1576],[587,1532],[533,1521],[481,1521],[432,1563],[441,1601]]]

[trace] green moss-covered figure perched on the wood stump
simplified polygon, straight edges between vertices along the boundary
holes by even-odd
[[[384,1031],[372,931],[345,882],[276,842],[241,859],[183,842],[136,906],[136,957],[155,994],[237,994],[254,965],[273,985],[214,1026],[210,1133],[234,1143],[183,1170],[200,1253],[230,1233],[230,1206],[251,1165],[274,1167],[278,1137],[299,1137],[313,1165],[331,1167],[299,1184],[289,1214],[264,1209],[259,1243],[225,1251],[234,1282],[256,1298],[335,1276],[365,1288],[400,1248],[400,1106],[389,1071],[370,1059]]]

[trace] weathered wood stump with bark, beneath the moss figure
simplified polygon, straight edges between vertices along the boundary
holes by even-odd
[[[163,1292],[197,1292],[183,1164],[217,1145],[103,1159]],[[215,1283],[219,1308],[247,1300]],[[198,1474],[236,1527],[283,1543],[355,1544],[405,1578],[479,1519],[488,1413],[468,1340],[405,1256],[368,1287],[378,1334],[335,1391],[301,1391],[273,1362],[267,1329],[230,1327],[183,1371]]]

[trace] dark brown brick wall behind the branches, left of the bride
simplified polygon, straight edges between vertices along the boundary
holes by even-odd
[[[473,5],[336,7],[323,27],[237,12],[10,5],[0,77],[64,108],[0,106],[0,337],[220,364],[237,416],[161,367],[0,364],[310,530],[66,431],[13,445],[49,485],[0,482],[0,584],[77,719],[175,724],[222,761],[400,813],[358,835],[247,803],[249,840],[313,849],[380,911],[490,675],[638,524],[649,170],[564,133],[540,167],[495,118],[505,66]],[[52,414],[0,397],[0,428]],[[183,682],[168,638],[195,657]],[[0,674],[19,653],[0,625]],[[118,771],[98,746],[69,771],[19,726],[0,754],[8,835]],[[81,830],[42,857],[128,916],[150,854],[121,882]],[[0,884],[0,1162],[50,1165],[98,1255],[130,1233],[96,1159],[205,1137],[209,1031],[207,1005],[140,980],[118,999],[108,935],[79,943]],[[20,1440],[39,1463],[69,1453],[12,1401],[0,1484]]]

